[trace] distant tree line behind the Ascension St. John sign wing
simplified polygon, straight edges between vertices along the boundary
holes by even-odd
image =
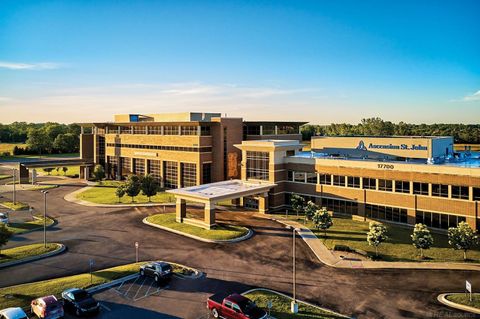
[[[453,136],[455,143],[480,144],[480,124],[409,124],[393,123],[381,118],[362,119],[358,124],[332,123],[330,125],[304,125],[304,140],[312,136]]]

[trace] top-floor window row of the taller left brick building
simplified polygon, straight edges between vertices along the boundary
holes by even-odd
[[[108,130],[97,130],[98,134],[114,133],[114,134],[148,134],[148,135],[198,135],[198,126],[178,126],[178,125],[161,125],[161,126],[109,126]],[[201,136],[211,136],[210,126],[200,126]]]

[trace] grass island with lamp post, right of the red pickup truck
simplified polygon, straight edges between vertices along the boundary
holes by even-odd
[[[276,319],[291,319],[291,318],[315,318],[315,319],[340,319],[350,318],[332,310],[313,305],[308,302],[296,300],[298,303],[298,313],[291,312],[292,298],[269,289],[252,289],[242,293],[245,297],[252,300],[258,307],[265,309],[267,313],[270,309],[270,316]]]

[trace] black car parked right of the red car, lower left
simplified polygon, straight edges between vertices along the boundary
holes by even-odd
[[[78,317],[100,310],[100,304],[84,289],[67,289],[62,292],[62,298],[65,311],[72,312]]]

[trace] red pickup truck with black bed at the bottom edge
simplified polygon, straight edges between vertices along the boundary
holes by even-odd
[[[267,313],[250,299],[239,295],[215,294],[208,298],[207,308],[214,318],[225,319],[266,319]]]

